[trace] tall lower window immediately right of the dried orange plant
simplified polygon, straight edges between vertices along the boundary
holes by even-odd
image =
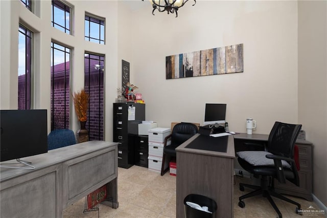
[[[84,57],[85,91],[90,95],[86,126],[89,140],[104,139],[104,56],[87,54]]]

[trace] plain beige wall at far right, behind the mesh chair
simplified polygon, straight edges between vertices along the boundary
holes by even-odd
[[[313,143],[313,193],[327,205],[327,2],[298,3],[299,123]]]

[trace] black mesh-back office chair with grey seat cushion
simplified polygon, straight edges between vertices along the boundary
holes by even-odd
[[[287,179],[299,186],[297,166],[294,160],[294,146],[300,129],[301,125],[275,122],[269,134],[267,151],[237,152],[240,165],[252,173],[254,177],[259,178],[261,176],[261,186],[240,183],[241,191],[244,191],[244,187],[255,189],[239,198],[241,208],[245,207],[243,199],[259,194],[269,200],[279,217],[282,217],[282,213],[278,210],[271,196],[296,205],[296,213],[301,208],[299,203],[274,192],[274,178],[280,183],[286,183]]]

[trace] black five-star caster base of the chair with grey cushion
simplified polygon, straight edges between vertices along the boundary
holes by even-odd
[[[295,212],[298,213],[298,210],[301,209],[301,205],[291,199],[284,197],[283,195],[281,195],[279,193],[274,192],[273,180],[272,180],[272,182],[271,182],[272,184],[270,186],[269,186],[268,180],[269,180],[269,178],[267,176],[262,176],[260,186],[240,183],[240,191],[244,191],[244,187],[254,189],[254,191],[244,194],[239,198],[239,207],[241,207],[241,208],[245,207],[245,203],[244,203],[244,201],[242,201],[243,199],[247,199],[247,198],[250,198],[250,197],[253,197],[256,195],[262,195],[262,197],[265,197],[268,199],[271,206],[274,208],[274,210],[278,214],[279,218],[283,217],[282,213],[281,213],[281,211],[279,211],[278,207],[276,206],[275,202],[272,200],[271,197],[275,197],[275,198],[278,198],[283,201],[286,201],[286,202],[296,205],[297,207],[295,209]]]

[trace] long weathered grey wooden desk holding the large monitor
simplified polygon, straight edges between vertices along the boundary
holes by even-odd
[[[89,141],[22,158],[32,162],[34,170],[1,168],[0,216],[62,217],[66,206],[109,182],[117,208],[117,145]],[[3,163],[9,162],[14,161]]]

